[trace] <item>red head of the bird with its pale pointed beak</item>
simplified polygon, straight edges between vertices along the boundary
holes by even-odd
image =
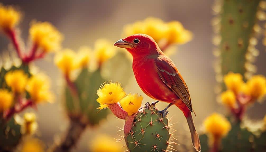
[[[130,35],[118,40],[114,45],[127,49],[133,57],[161,52],[153,38],[146,34]]]

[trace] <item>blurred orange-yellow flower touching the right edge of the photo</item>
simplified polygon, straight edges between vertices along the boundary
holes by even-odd
[[[266,78],[263,75],[255,75],[247,82],[247,93],[252,99],[259,99],[266,94]]]

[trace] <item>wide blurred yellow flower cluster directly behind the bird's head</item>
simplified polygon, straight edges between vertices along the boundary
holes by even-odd
[[[157,43],[166,40],[168,44],[183,44],[192,39],[192,33],[186,30],[178,21],[165,23],[158,18],[146,18],[126,25],[123,29],[123,36],[143,33],[151,36]]]

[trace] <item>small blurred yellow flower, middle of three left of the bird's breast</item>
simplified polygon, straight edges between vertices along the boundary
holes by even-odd
[[[90,53],[91,49],[88,47],[81,47],[78,50],[77,58],[76,58],[76,66],[79,67],[86,67],[90,61]]]

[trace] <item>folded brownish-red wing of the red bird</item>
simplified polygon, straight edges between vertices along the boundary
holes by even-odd
[[[174,63],[165,56],[155,59],[157,72],[163,82],[188,106],[192,112],[192,104],[188,87]]]

